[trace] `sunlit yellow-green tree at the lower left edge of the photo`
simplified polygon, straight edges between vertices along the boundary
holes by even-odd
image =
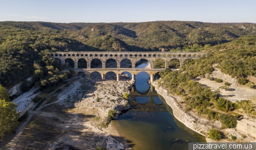
[[[5,134],[10,133],[18,125],[19,113],[16,112],[17,105],[0,99],[0,138],[3,142]]]

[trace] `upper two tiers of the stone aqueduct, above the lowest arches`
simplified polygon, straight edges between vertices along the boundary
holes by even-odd
[[[59,59],[61,64],[65,64],[66,59],[74,61],[74,68],[78,68],[78,61],[84,59],[87,62],[87,68],[91,68],[93,59],[99,59],[102,63],[102,68],[105,68],[108,59],[114,59],[117,63],[117,68],[120,68],[123,59],[129,59],[132,62],[132,68],[135,68],[136,62],[140,59],[150,61],[151,68],[154,68],[154,61],[156,59],[163,59],[165,67],[168,67],[168,62],[172,59],[178,59],[180,65],[184,64],[186,59],[198,59],[206,56],[203,52],[53,52],[52,58]]]

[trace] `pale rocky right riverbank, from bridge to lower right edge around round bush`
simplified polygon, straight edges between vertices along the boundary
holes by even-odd
[[[157,93],[166,101],[166,104],[172,107],[173,114],[177,120],[182,122],[187,128],[205,136],[206,142],[217,142],[211,140],[208,137],[208,132],[210,129],[220,130],[224,134],[224,138],[218,142],[234,142],[230,139],[230,135],[237,137],[237,142],[254,142],[254,137],[248,135],[245,132],[237,131],[236,129],[222,129],[222,125],[219,121],[207,120],[202,117],[197,116],[193,112],[188,112],[184,110],[183,98],[180,96],[170,95],[168,90],[164,89],[162,86],[158,87],[158,81],[152,83]]]

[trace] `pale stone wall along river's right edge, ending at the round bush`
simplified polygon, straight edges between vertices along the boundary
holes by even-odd
[[[185,112],[177,102],[176,98],[168,94],[168,90],[162,86],[159,87],[157,93],[162,95],[166,103],[172,107],[174,116],[181,121],[186,127],[194,130],[195,132],[206,136],[206,133],[212,128],[220,130],[221,123],[215,121],[214,123],[210,120],[203,118],[196,118],[189,112]]]

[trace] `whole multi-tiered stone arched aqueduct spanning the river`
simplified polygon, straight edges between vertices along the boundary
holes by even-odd
[[[88,79],[90,79],[92,72],[99,72],[101,74],[101,80],[105,80],[105,74],[108,72],[116,73],[117,81],[120,80],[120,74],[124,71],[130,72],[132,74],[132,80],[135,80],[136,74],[145,71],[150,74],[150,81],[154,81],[155,74],[168,67],[168,63],[172,59],[177,59],[180,61],[180,65],[184,64],[186,59],[198,59],[200,57],[206,56],[206,53],[196,53],[196,52],[53,52],[51,57],[60,61],[62,65],[73,62],[73,70],[75,72],[84,72]],[[116,68],[106,68],[106,62],[112,59],[116,61]],[[135,68],[135,64],[141,59],[145,59],[150,62],[150,68]],[[162,59],[165,62],[165,68],[154,68],[154,61],[157,59]],[[87,64],[86,66],[79,65],[79,62]],[[101,62],[101,68],[92,68],[92,62],[98,60]],[[123,68],[123,60],[129,60],[132,67]],[[82,66],[82,67],[78,67]]]

